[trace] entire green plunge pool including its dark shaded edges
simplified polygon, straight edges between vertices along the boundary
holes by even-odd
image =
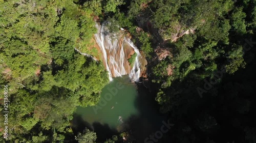
[[[132,131],[132,135],[143,142],[166,120],[166,116],[159,113],[155,95],[143,85],[137,88],[129,76],[114,78],[100,96],[95,106],[77,107],[71,123],[75,134],[87,127],[96,132],[99,142],[104,142],[112,135]]]

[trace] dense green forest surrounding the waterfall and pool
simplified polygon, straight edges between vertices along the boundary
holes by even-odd
[[[10,101],[0,142],[99,142],[70,127],[109,82],[101,62],[74,49],[95,44],[95,17],[125,28],[145,55],[146,82],[175,124],[158,142],[256,142],[255,0],[0,0],[1,112],[4,85]]]

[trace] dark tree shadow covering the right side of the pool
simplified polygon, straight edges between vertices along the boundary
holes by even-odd
[[[161,129],[162,121],[166,121],[167,115],[159,112],[154,93],[149,92],[143,85],[138,85],[137,92],[134,105],[139,114],[125,120],[123,130],[129,131],[137,142],[144,142],[145,138]]]

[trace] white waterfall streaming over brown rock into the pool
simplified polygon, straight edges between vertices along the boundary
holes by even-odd
[[[112,77],[122,76],[129,74],[132,81],[138,81],[140,77],[140,52],[133,42],[126,37],[114,38],[109,34],[108,28],[105,26],[106,22],[102,25],[96,23],[98,33],[95,34],[95,40],[102,52],[102,61],[109,72],[110,81]],[[133,68],[131,69],[127,58],[130,52],[134,50],[137,53]]]

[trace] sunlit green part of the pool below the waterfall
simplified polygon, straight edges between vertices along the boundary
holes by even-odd
[[[127,76],[114,78],[102,89],[100,96],[97,105],[77,108],[76,113],[90,125],[98,122],[118,130],[129,117],[139,113],[135,107],[135,99],[138,96],[136,84],[131,83]]]

